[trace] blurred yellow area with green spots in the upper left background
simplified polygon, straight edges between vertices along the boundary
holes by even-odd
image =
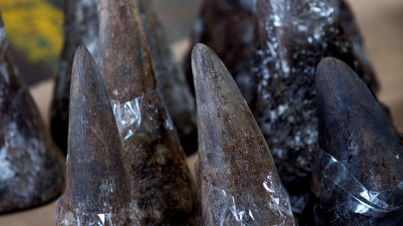
[[[47,0],[0,0],[10,43],[29,62],[57,68],[63,45],[63,12]]]

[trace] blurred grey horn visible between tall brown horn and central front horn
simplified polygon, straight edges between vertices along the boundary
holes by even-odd
[[[150,46],[158,87],[178,131],[186,155],[197,151],[196,106],[183,69],[175,61],[165,31],[154,12],[153,1],[137,0],[140,18]]]

